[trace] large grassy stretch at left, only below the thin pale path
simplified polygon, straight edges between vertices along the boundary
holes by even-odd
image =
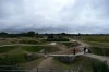
[[[56,46],[4,46],[0,47],[0,65],[20,65],[24,69],[33,69],[44,58],[39,56],[38,52],[45,49],[46,52],[58,51]],[[33,65],[33,67],[29,67]],[[0,67],[0,69],[2,69]],[[9,68],[4,68],[9,69]],[[10,68],[11,69],[11,68]]]

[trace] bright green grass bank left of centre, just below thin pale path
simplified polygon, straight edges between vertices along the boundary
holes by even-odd
[[[29,52],[39,52],[41,49],[45,49],[47,52],[58,51],[56,46],[22,46],[22,49]]]

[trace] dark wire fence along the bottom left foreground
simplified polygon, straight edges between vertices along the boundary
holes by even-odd
[[[16,69],[16,65],[0,65],[0,72],[78,72],[78,70],[62,70],[62,69],[43,69],[36,68],[34,70]]]

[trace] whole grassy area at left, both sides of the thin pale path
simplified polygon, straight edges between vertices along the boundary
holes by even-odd
[[[13,44],[26,45],[22,46]],[[36,67],[36,63],[44,58],[38,55],[40,50],[45,50],[45,52],[55,52],[60,50],[57,46],[50,46],[47,44],[50,43],[44,40],[44,38],[36,37],[0,38],[1,46],[13,45],[0,47],[0,65],[23,64],[26,65],[26,68],[29,65]]]

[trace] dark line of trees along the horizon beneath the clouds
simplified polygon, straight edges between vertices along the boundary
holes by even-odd
[[[16,34],[9,34],[7,32],[0,32],[0,37],[20,37],[20,36],[24,36],[24,37],[34,37],[34,36],[51,36],[51,35],[62,35],[62,36],[102,36],[102,35],[109,35],[109,34],[68,34],[68,33],[57,33],[57,34],[48,34],[48,33],[45,33],[45,34],[38,34],[38,33],[35,33],[34,31],[29,31],[29,32],[25,32],[25,33],[16,33]]]

